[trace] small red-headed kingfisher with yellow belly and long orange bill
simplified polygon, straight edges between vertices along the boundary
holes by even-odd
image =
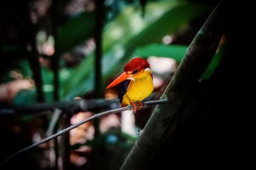
[[[153,76],[146,59],[134,58],[124,66],[124,73],[109,84],[108,88],[119,85],[118,98],[121,107],[133,105],[134,113],[141,109],[141,101],[154,89]],[[135,103],[140,104],[137,108]]]

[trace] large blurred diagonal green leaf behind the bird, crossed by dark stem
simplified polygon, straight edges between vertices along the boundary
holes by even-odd
[[[148,3],[150,13],[147,20],[140,15],[140,10],[133,6],[127,6],[116,20],[109,22],[103,32],[102,75],[103,87],[106,81],[121,72],[123,66],[134,56],[134,50],[150,43],[161,42],[164,35],[174,34],[189,24],[189,21],[209,12],[209,6],[198,4],[180,4],[177,1],[168,3]],[[157,5],[155,5],[157,4]],[[162,8],[162,7],[165,8]],[[158,13],[156,11],[159,11]],[[161,14],[159,14],[161,13]],[[170,56],[173,56],[170,54]],[[93,91],[94,75],[93,54],[87,56],[84,61],[71,73],[67,82],[63,85],[61,98],[71,99],[77,95]],[[83,73],[83,74],[81,74]]]

